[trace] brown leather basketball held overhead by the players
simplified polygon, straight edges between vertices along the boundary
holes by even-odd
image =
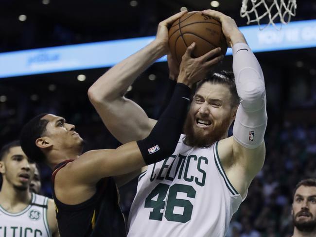
[[[227,51],[221,22],[202,15],[199,11],[184,14],[169,29],[170,51],[179,64],[187,47],[193,42],[196,44],[192,52],[193,58],[200,57],[217,47],[222,48],[223,55]]]

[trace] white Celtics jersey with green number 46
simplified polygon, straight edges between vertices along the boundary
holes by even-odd
[[[128,219],[128,237],[224,237],[242,197],[217,152],[186,146],[181,135],[169,158],[148,166]]]

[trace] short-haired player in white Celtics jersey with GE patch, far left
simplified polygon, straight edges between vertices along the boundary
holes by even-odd
[[[53,200],[29,190],[32,163],[18,141],[0,151],[0,237],[59,237]]]

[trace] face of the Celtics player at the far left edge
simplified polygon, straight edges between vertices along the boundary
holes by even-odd
[[[27,190],[34,175],[32,163],[34,162],[27,158],[20,146],[10,148],[0,161],[3,182],[18,190]]]

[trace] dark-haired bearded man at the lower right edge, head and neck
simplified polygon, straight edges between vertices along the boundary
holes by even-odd
[[[300,181],[294,190],[293,237],[316,236],[316,179]]]

